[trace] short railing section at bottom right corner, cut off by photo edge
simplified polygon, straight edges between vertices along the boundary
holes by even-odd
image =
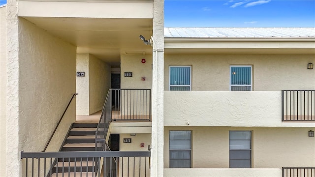
[[[315,177],[315,167],[283,167],[282,177]]]

